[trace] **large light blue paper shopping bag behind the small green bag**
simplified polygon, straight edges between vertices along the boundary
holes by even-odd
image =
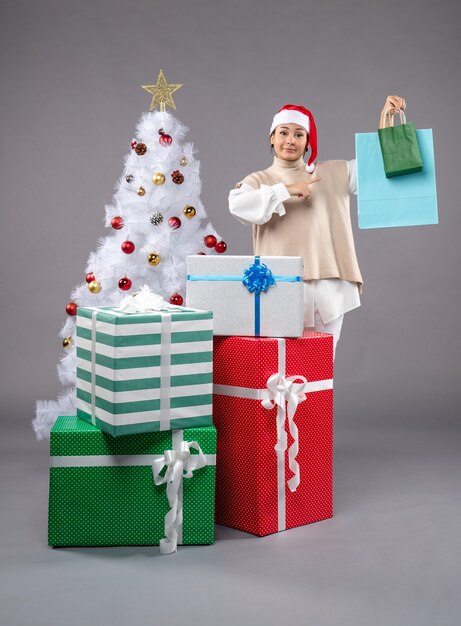
[[[432,130],[417,130],[423,171],[386,178],[378,133],[357,133],[359,228],[438,224]]]

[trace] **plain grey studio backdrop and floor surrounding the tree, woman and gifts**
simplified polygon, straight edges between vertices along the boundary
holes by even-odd
[[[459,624],[459,3],[4,0],[1,20],[4,623]],[[333,520],[265,539],[217,528],[215,546],[160,561],[49,550],[34,401],[60,391],[64,307],[161,67],[184,83],[176,115],[230,254],[251,234],[228,190],[269,165],[286,102],[313,110],[329,159],[405,97],[434,130],[440,224],[356,229],[365,292],[336,359]]]

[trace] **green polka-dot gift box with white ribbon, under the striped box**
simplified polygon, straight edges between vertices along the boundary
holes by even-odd
[[[50,452],[50,546],[213,543],[213,426],[114,438],[59,417]]]

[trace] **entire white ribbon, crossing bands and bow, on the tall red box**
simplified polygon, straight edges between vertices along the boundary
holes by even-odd
[[[300,402],[304,402],[307,393],[333,389],[333,379],[308,382],[304,376],[286,377],[286,342],[283,338],[275,338],[278,344],[278,372],[269,376],[264,389],[251,387],[234,387],[232,385],[213,385],[213,393],[221,396],[233,396],[249,400],[259,400],[265,409],[277,407],[277,443],[274,450],[277,455],[277,508],[278,530],[286,529],[286,490],[296,491],[301,482],[301,472],[296,457],[299,452],[299,431],[294,416]],[[296,381],[302,381],[300,383]],[[288,450],[288,466],[293,476],[285,480],[285,452],[288,447],[288,436],[285,424],[293,438]]]

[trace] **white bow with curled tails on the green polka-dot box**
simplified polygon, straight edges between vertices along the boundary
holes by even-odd
[[[191,449],[198,454],[191,454]],[[182,493],[180,486],[183,478],[192,478],[193,472],[205,467],[206,457],[196,441],[183,441],[179,450],[165,450],[163,456],[152,465],[156,485],[166,483],[166,495],[170,510],[165,515],[165,538],[160,540],[160,552],[171,554],[178,546],[178,529],[182,526]],[[166,467],[166,472],[160,472]]]

